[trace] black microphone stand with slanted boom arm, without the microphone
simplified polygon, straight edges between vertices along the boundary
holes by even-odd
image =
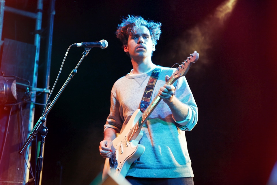
[[[33,138],[35,138],[38,135],[38,133],[40,133],[40,156],[38,156],[38,160],[37,160],[37,164],[36,164],[35,185],[39,185],[39,182],[40,182],[40,173],[42,171],[42,161],[43,161],[42,151],[43,151],[43,146],[44,146],[44,143],[45,143],[45,137],[46,137],[46,134],[48,133],[48,129],[47,129],[47,127],[45,127],[43,125],[43,123],[46,121],[46,116],[48,115],[50,110],[53,108],[53,106],[56,103],[57,99],[60,97],[63,90],[68,85],[69,81],[77,73],[77,68],[80,66],[83,59],[89,54],[90,49],[91,48],[85,47],[85,51],[83,52],[83,56],[82,56],[81,60],[76,65],[75,69],[73,69],[71,71],[70,75],[68,76],[68,79],[65,81],[65,83],[63,84],[63,86],[61,87],[61,89],[57,93],[56,97],[51,102],[51,104],[49,105],[47,110],[45,111],[45,113],[42,115],[42,117],[40,117],[38,122],[35,124],[32,132],[30,133],[30,136],[27,138],[27,140],[25,141],[25,143],[21,147],[20,151],[18,152],[20,155],[22,155],[24,153],[24,151],[26,150],[26,148],[28,147],[28,145],[33,140]]]

